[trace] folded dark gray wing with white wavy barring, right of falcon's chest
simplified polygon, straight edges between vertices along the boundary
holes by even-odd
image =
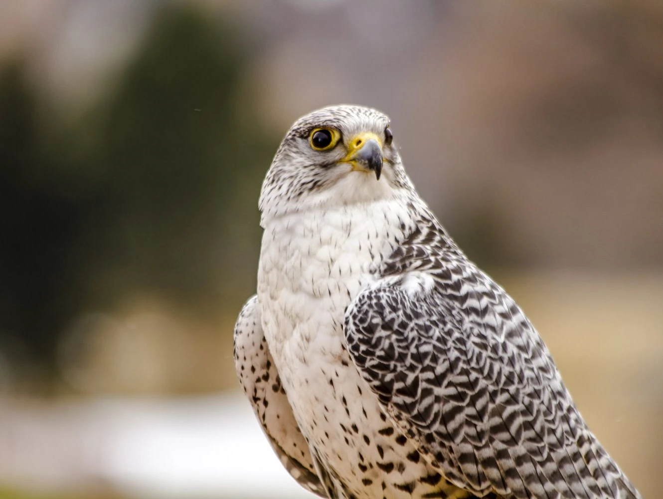
[[[511,297],[455,246],[419,237],[345,315],[350,356],[394,424],[477,496],[639,498]]]

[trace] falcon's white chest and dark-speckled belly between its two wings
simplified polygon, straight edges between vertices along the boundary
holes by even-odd
[[[258,289],[265,337],[335,494],[464,497],[441,483],[377,398],[367,396],[370,388],[345,349],[345,310],[381,277],[383,262],[414,225],[407,210],[388,209],[389,202],[283,216],[265,228]]]

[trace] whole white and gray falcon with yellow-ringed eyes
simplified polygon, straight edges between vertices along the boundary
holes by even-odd
[[[300,117],[259,197],[235,368],[267,439],[329,499],[641,498],[542,338],[406,174],[389,117]]]

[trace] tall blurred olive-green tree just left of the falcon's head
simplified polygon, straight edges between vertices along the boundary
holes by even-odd
[[[104,303],[149,290],[213,311],[254,284],[245,269],[257,245],[247,238],[259,236],[274,141],[241,100],[241,41],[192,6],[166,7],[95,113],[84,163],[103,188],[84,253],[98,272],[90,293]]]

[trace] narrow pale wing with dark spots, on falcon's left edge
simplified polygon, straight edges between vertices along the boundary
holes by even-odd
[[[239,382],[278,459],[301,486],[326,498],[308,443],[294,419],[269,353],[255,295],[239,313],[234,347]]]

